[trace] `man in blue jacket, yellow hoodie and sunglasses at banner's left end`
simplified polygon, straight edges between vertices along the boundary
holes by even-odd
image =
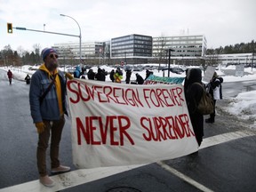
[[[46,149],[51,137],[51,172],[68,172],[70,168],[60,164],[59,148],[66,108],[66,78],[58,70],[58,54],[52,48],[42,51],[44,64],[31,78],[29,103],[31,116],[38,132],[36,151],[39,180],[46,187],[52,187],[54,181],[46,169]],[[71,74],[68,74],[72,78]],[[42,96],[43,95],[43,96]]]

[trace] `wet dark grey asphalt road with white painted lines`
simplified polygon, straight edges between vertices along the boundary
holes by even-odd
[[[230,94],[230,90],[232,95],[241,92],[240,88],[234,92],[234,87],[240,86],[244,87],[244,83],[223,84],[224,96]],[[62,164],[71,166],[72,172],[53,176],[59,180],[58,189],[38,187],[37,133],[30,116],[28,90],[25,82],[13,80],[9,85],[5,72],[0,70],[0,192],[38,188],[39,191],[65,192],[256,191],[256,132],[248,128],[250,122],[238,120],[222,110],[227,100],[217,103],[216,123],[204,124],[204,140],[198,154],[123,170],[108,168],[108,172],[76,170],[72,164],[70,119],[67,118],[60,159]]]

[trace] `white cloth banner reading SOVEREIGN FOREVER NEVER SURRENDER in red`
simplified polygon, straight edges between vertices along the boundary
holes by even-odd
[[[198,149],[180,84],[73,79],[67,88],[78,168],[148,164]]]

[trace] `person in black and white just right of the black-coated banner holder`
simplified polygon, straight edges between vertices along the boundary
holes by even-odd
[[[216,100],[222,100],[222,86],[223,78],[218,76],[216,71],[214,72],[209,84],[206,85],[214,101],[214,111],[210,114],[210,117],[205,119],[205,123],[213,124],[215,121],[215,105]]]

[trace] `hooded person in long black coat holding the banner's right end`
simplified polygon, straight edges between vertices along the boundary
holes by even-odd
[[[204,136],[204,116],[196,111],[196,106],[204,92],[202,83],[202,71],[200,68],[189,68],[186,71],[184,83],[185,98],[188,106],[188,113],[193,126],[198,146],[201,145]],[[200,83],[200,84],[195,84]]]

